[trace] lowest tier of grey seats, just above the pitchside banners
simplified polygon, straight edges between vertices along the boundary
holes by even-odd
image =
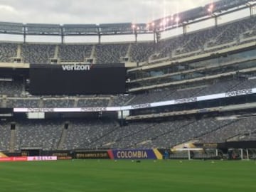
[[[41,147],[58,149],[65,120],[23,120],[16,122],[15,149]],[[255,117],[240,119],[175,119],[163,122],[131,122],[119,127],[111,119],[70,119],[61,149],[151,149],[189,141],[218,143],[255,138]],[[10,144],[10,123],[1,124],[1,150]],[[2,136],[6,137],[2,137]],[[241,137],[238,137],[241,136]]]

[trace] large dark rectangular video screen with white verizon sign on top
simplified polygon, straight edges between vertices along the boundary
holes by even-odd
[[[33,95],[91,95],[125,92],[126,68],[117,64],[31,64]]]

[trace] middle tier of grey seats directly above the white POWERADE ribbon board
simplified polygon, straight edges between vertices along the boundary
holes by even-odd
[[[184,89],[175,89],[171,87],[151,90],[148,93],[137,95],[112,95],[110,97],[27,97],[28,93],[23,91],[21,82],[0,82],[1,95],[8,96],[6,100],[7,107],[107,107],[137,105],[145,102],[159,102],[165,100],[177,100],[188,97],[198,97],[211,95],[220,92],[230,92],[235,90],[244,90],[255,87],[256,80],[231,79],[226,81],[217,80],[215,82],[205,83],[203,86],[189,87]],[[77,102],[75,102],[77,100]]]

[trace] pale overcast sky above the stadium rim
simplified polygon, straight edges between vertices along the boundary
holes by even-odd
[[[0,21],[147,23],[216,0],[0,0]]]

